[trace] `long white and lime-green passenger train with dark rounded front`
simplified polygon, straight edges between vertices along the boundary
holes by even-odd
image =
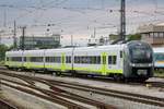
[[[5,66],[15,70],[51,72],[56,75],[107,76],[141,80],[153,76],[153,50],[143,41],[5,52]]]

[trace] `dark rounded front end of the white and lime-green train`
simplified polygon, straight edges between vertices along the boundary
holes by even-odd
[[[153,76],[153,50],[151,46],[142,41],[127,44],[127,71],[126,76],[130,78],[148,80]]]

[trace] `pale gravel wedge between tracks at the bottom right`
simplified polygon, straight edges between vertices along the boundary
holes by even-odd
[[[60,87],[63,88],[63,87]],[[84,97],[87,97],[90,99],[98,100],[108,105],[116,106],[118,109],[164,109],[162,107],[157,106],[150,106],[150,105],[144,105],[140,102],[134,102],[130,100],[125,100],[125,99],[119,99],[115,97],[108,97],[108,96],[102,96],[98,94],[94,94],[91,92],[79,92],[75,89],[70,89],[70,88],[63,88],[67,89],[73,94],[82,95]]]

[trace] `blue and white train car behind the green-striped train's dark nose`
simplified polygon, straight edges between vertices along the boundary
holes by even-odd
[[[153,48],[154,51],[154,69],[164,70],[164,47]]]

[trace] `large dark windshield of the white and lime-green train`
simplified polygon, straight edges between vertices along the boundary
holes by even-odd
[[[129,46],[129,53],[132,63],[152,62],[152,49],[147,44],[136,44]]]

